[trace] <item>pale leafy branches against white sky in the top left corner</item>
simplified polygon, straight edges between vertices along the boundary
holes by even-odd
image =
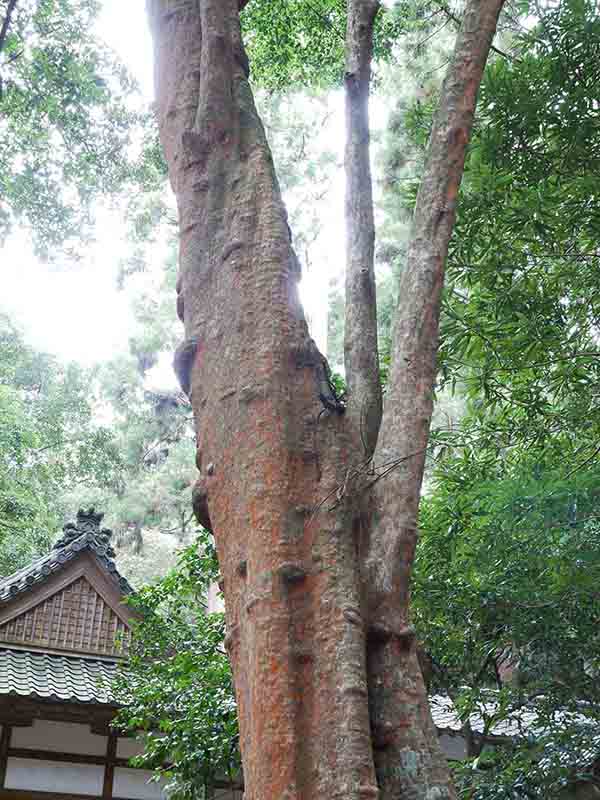
[[[132,131],[149,121],[94,34],[97,0],[2,0],[0,238],[26,224],[38,253],[91,232],[92,201],[146,174]]]

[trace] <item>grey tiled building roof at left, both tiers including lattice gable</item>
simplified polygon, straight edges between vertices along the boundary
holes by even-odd
[[[114,705],[135,612],[102,516],[79,511],[48,554],[0,580],[0,698]]]

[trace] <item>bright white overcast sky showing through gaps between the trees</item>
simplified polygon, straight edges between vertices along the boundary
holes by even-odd
[[[144,0],[104,0],[99,34],[116,50],[151,99],[152,44]],[[340,148],[342,109],[333,146]],[[318,258],[303,279],[302,296],[313,336],[324,349],[329,278],[343,266],[343,181],[328,199],[323,227],[328,232]],[[100,215],[97,243],[82,263],[63,268],[36,261],[24,235],[14,236],[1,254],[0,306],[9,310],[36,347],[85,364],[105,360],[127,349],[131,332],[128,292],[116,288],[119,259],[126,254],[117,215]]]

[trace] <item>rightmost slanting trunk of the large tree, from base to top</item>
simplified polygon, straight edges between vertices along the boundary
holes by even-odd
[[[456,216],[477,93],[503,0],[468,0],[441,91],[413,218],[394,331],[390,383],[374,465],[415,453],[372,490],[372,528],[365,565],[370,625],[388,631],[369,658],[374,735],[386,746],[375,760],[381,798],[454,794],[408,634],[409,585],[417,512],[433,408],[444,266]],[[385,688],[384,688],[385,687]],[[402,709],[399,715],[397,709]],[[401,717],[401,719],[400,719]],[[407,752],[414,770],[398,769]]]

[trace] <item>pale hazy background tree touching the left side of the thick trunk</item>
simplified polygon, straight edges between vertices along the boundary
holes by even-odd
[[[133,304],[136,325],[129,352],[96,370],[102,398],[98,411],[110,420],[114,446],[121,456],[119,469],[110,480],[68,491],[65,501],[69,508],[92,504],[107,510],[119,561],[127,564],[134,584],[141,585],[174,566],[175,550],[191,541],[197,525],[190,509],[194,480],[191,407],[168,367],[176,323],[170,301],[175,285],[172,254],[164,272],[147,271],[138,278],[145,288]],[[161,543],[161,535],[171,543]],[[150,545],[147,552],[146,544]],[[166,548],[163,558],[151,557],[156,548]]]

